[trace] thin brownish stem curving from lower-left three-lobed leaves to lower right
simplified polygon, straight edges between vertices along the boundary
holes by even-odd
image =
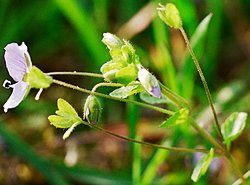
[[[100,130],[102,132],[105,132],[105,133],[107,133],[109,135],[112,135],[114,137],[117,137],[117,138],[120,138],[120,139],[124,139],[124,140],[130,141],[130,142],[133,142],[133,143],[139,143],[139,144],[142,144],[142,145],[147,145],[147,146],[152,147],[152,148],[160,148],[160,149],[172,150],[172,151],[176,151],[176,152],[191,152],[191,153],[194,153],[194,152],[208,153],[209,152],[206,149],[200,149],[200,148],[193,149],[193,148],[182,148],[182,147],[167,147],[167,146],[162,146],[162,145],[158,145],[158,144],[148,143],[148,142],[144,142],[144,141],[132,139],[130,137],[126,137],[126,136],[122,136],[122,135],[113,133],[111,131],[108,131],[108,130],[106,130],[104,128],[101,128],[99,126],[96,126],[96,125],[90,125],[89,123],[84,123],[84,124],[88,125],[89,127],[92,127],[92,128],[97,129],[97,130]]]

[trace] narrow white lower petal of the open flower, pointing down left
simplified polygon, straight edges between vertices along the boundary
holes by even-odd
[[[7,102],[3,105],[4,112],[7,112],[8,109],[15,108],[21,103],[28,90],[28,83],[20,81],[10,87],[13,88],[13,92]]]

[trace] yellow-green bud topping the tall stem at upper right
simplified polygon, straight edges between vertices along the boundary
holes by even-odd
[[[182,27],[179,10],[172,3],[166,4],[165,7],[160,5],[158,8],[158,15],[170,27],[175,29],[180,29]]]

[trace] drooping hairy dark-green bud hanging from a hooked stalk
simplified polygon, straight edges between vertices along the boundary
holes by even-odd
[[[89,95],[83,109],[83,119],[90,124],[97,124],[101,116],[101,104],[96,96]]]

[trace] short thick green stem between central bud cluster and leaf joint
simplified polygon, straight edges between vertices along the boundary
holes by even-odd
[[[187,109],[190,109],[190,106],[188,102],[182,98],[181,96],[175,94],[173,91],[171,91],[169,88],[167,88],[165,85],[163,85],[161,82],[159,82],[160,87],[163,89],[163,93],[171,99],[174,103],[176,103],[179,107],[185,107]]]

